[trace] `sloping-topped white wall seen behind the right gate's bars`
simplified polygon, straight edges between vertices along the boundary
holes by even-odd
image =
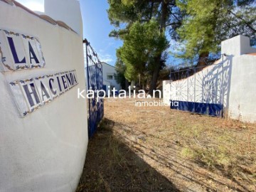
[[[170,90],[171,100],[213,104],[223,103],[223,90],[221,89],[223,85],[223,65],[219,65],[219,62],[218,60],[215,65],[210,65],[188,78],[171,83],[169,80],[164,81],[164,92]],[[224,65],[224,70],[225,67],[227,68],[227,65]],[[164,97],[164,102],[168,101],[169,97]]]

